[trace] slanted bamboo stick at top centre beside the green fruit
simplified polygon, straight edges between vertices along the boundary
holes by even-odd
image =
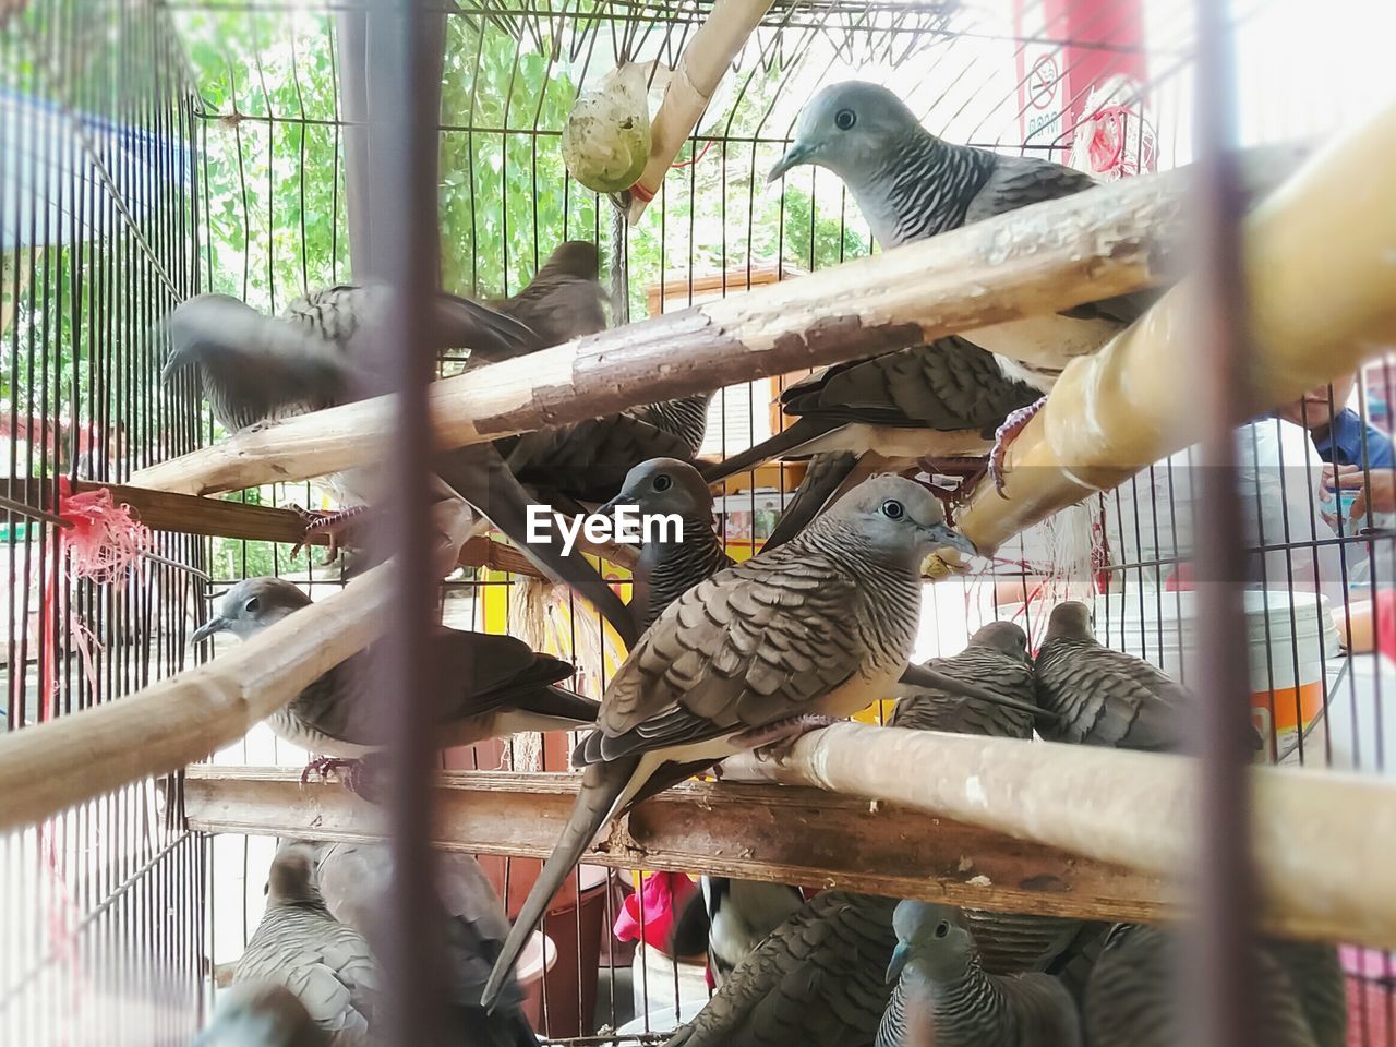
[[[674,156],[694,133],[713,91],[732,68],[732,61],[745,46],[747,38],[771,10],[771,3],[772,0],[718,0],[684,49],[678,68],[669,80],[664,101],[655,113],[645,170],[630,187],[627,218],[631,225],[639,221],[649,201],[659,193]]]

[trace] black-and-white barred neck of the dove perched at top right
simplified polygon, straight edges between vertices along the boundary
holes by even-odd
[[[988,181],[994,154],[917,131],[888,149],[860,188],[850,186],[882,247],[959,229],[970,201]]]

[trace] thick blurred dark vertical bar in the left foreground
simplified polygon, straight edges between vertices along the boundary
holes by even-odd
[[[380,332],[381,373],[398,389],[395,440],[383,470],[383,547],[396,558],[392,593],[395,628],[384,637],[373,671],[385,702],[392,826],[392,881],[377,942],[385,976],[387,1043],[401,1047],[443,1043],[443,919],[431,877],[429,826],[433,766],[430,733],[436,666],[427,642],[436,625],[431,564],[429,456],[431,427],[427,383],[436,357],[431,299],[437,285],[436,131],[443,20],[410,0],[376,0],[369,11],[370,126],[369,202],[376,218],[376,253],[396,292]],[[350,225],[353,216],[350,216]]]

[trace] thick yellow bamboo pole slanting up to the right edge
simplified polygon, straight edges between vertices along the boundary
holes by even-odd
[[[1396,346],[1396,106],[1314,156],[1242,223],[1252,366],[1235,423]],[[959,524],[984,554],[1202,437],[1184,281],[1094,356],[1072,360],[1008,451],[1007,500],[981,487]]]

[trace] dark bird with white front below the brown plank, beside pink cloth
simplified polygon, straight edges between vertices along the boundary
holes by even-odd
[[[787,884],[699,877],[698,888],[674,920],[669,951],[674,956],[706,952],[708,972],[719,987],[768,934],[804,906],[804,893]]]

